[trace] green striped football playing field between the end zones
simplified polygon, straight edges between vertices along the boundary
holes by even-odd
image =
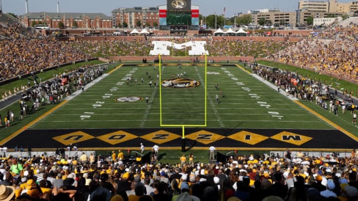
[[[204,66],[162,66],[165,86],[159,87],[158,66],[118,67],[29,129],[160,128],[161,124],[335,129],[239,67],[208,66],[206,71]],[[180,73],[183,77],[177,79]],[[127,77],[132,77],[128,83]]]

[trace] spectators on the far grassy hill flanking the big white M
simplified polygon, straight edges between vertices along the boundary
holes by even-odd
[[[189,40],[189,39],[187,39]],[[173,38],[174,43],[183,43],[187,41],[182,38]],[[255,40],[212,40],[204,38],[207,42],[205,47],[210,56],[252,56],[266,57],[290,45],[290,42],[283,41],[255,41]],[[99,40],[99,41],[80,41],[75,46],[79,51],[91,54],[95,57],[107,56],[148,56],[152,46],[152,40],[145,38],[140,40]],[[186,55],[187,50],[173,50],[173,56]]]

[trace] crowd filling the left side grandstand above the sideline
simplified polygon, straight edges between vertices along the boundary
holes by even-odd
[[[18,24],[0,24],[0,81],[32,71],[91,58],[71,42],[41,36]]]

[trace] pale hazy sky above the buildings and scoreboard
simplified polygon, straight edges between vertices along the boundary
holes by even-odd
[[[25,0],[0,0],[4,12],[16,15],[25,13]],[[111,16],[111,11],[119,7],[156,7],[167,3],[167,0],[59,0],[60,12],[101,12]],[[223,14],[234,16],[235,13],[247,13],[251,9],[280,8],[281,11],[294,11],[299,0],[191,0],[199,5],[199,13]],[[353,0],[338,0],[350,2]],[[28,0],[29,12],[57,12],[57,0]]]

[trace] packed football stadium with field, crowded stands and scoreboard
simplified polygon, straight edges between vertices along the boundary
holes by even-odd
[[[168,0],[151,33],[0,12],[0,201],[356,201],[358,18],[237,36],[198,12]]]

